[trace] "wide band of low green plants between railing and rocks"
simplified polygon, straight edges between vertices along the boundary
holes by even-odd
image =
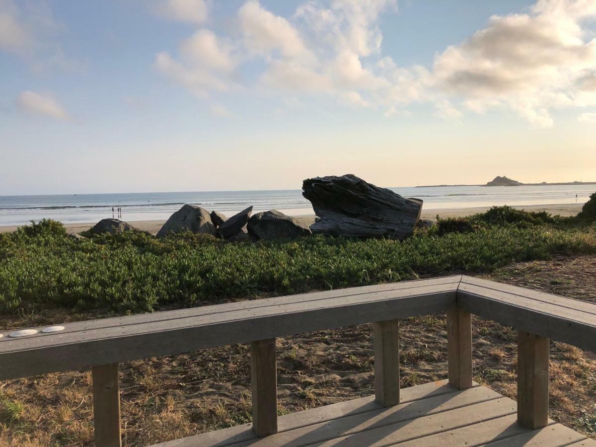
[[[445,220],[402,242],[315,236],[259,243],[191,233],[158,240],[144,232],[77,240],[44,220],[0,234],[0,311],[151,311],[596,253],[593,225],[551,219],[501,208],[458,219],[465,232],[441,231]]]

